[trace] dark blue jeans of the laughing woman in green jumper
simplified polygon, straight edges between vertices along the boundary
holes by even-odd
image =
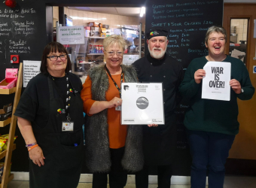
[[[235,135],[187,130],[191,165],[191,188],[223,188],[225,163]]]

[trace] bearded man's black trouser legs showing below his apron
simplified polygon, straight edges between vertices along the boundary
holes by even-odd
[[[148,188],[148,165],[142,171],[136,173],[136,188]],[[172,165],[157,166],[158,188],[169,188],[171,186]]]

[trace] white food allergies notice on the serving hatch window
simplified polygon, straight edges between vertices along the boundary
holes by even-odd
[[[84,26],[59,27],[60,44],[84,44]]]

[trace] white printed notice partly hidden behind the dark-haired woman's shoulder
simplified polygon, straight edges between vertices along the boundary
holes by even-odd
[[[23,87],[26,87],[32,77],[40,73],[40,66],[40,61],[23,61]]]

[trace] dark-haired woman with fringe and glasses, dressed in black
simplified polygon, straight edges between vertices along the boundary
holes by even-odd
[[[44,48],[41,73],[29,81],[15,111],[29,151],[29,187],[78,186],[83,160],[82,83],[70,73],[62,44]]]

